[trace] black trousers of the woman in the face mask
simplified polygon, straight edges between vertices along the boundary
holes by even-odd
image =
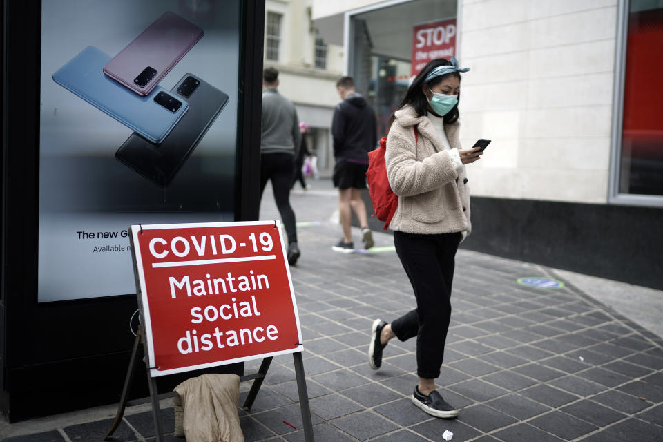
[[[416,336],[419,377],[440,376],[451,320],[451,286],[461,233],[419,235],[394,231],[394,245],[410,278],[416,309],[392,321],[399,340]]]

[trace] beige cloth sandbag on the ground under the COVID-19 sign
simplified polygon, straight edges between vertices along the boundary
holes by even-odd
[[[203,374],[174,388],[182,398],[186,442],[244,442],[240,427],[240,376]]]

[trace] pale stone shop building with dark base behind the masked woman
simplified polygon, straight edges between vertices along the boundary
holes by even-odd
[[[471,68],[461,142],[492,144],[464,247],[663,288],[663,1],[314,0],[313,18],[381,121],[426,23]]]

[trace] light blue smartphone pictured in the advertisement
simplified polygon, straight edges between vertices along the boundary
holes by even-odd
[[[189,104],[157,86],[144,97],[104,74],[111,60],[88,46],[53,74],[53,81],[117,119],[146,140],[160,143],[186,113]]]

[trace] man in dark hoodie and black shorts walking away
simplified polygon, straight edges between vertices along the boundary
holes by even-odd
[[[359,220],[364,249],[373,247],[373,235],[368,228],[366,206],[361,190],[366,189],[368,152],[376,148],[376,118],[373,108],[356,93],[352,77],[336,81],[336,90],[343,99],[334,108],[332,137],[334,138],[334,187],[338,187],[338,212],[343,238],[332,247],[336,251],[354,251],[350,223],[352,213]]]

